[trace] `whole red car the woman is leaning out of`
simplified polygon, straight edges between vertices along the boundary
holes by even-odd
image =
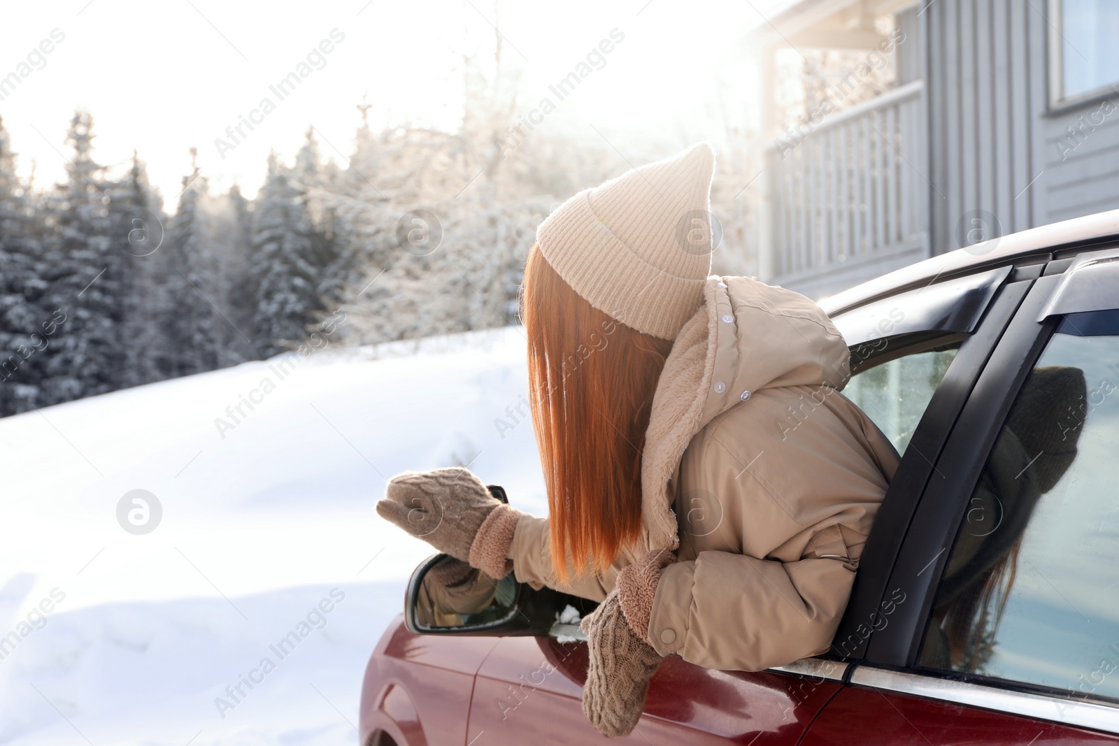
[[[822,305],[844,395],[902,454],[833,648],[759,672],[668,658],[619,740],[1119,743],[1119,210]],[[511,576],[446,601],[443,561],[369,660],[363,746],[599,742],[575,623],[594,604]]]

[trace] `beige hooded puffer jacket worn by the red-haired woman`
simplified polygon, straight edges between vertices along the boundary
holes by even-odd
[[[662,655],[756,671],[828,649],[897,452],[839,394],[843,336],[810,300],[712,276],[653,397],[640,547],[561,585],[548,522],[517,523],[518,580],[601,601],[618,570],[671,548],[649,623]]]

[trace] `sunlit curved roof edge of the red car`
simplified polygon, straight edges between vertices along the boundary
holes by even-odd
[[[835,315],[871,301],[938,280],[948,280],[995,266],[1017,263],[1034,255],[1081,244],[1119,238],[1119,209],[1097,213],[1022,230],[960,248],[875,277],[850,290],[825,298],[820,306]]]

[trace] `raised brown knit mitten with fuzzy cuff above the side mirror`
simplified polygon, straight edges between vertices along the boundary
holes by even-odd
[[[520,512],[491,495],[469,469],[397,474],[377,514],[490,577],[505,577],[510,568],[506,554]]]

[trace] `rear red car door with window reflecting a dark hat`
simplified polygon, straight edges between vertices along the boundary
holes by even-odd
[[[880,587],[905,602],[803,743],[1119,743],[1117,454],[1106,249],[1032,283]]]

